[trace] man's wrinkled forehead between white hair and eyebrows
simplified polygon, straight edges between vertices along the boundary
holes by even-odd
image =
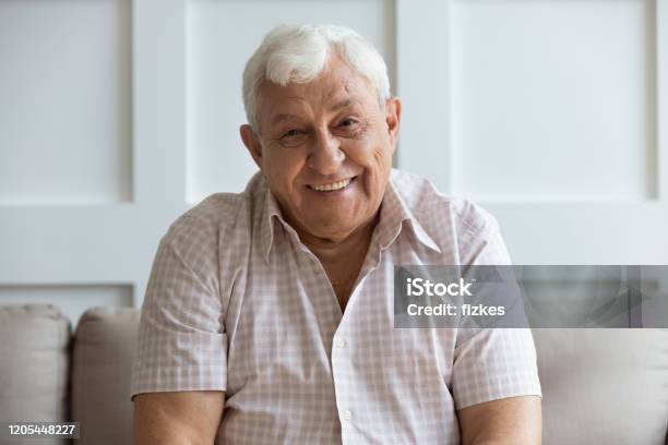
[[[260,86],[259,115],[271,119],[286,109],[335,110],[348,105],[375,104],[372,84],[338,57],[332,57],[318,77],[285,86],[264,81]]]

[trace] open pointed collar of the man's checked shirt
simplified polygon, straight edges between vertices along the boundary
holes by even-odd
[[[299,242],[299,237],[295,229],[293,229],[283,218],[283,213],[281,212],[276,197],[264,180],[262,181],[262,192],[264,194],[264,202],[262,203],[260,237],[264,261],[269,263],[270,253],[274,244],[276,221],[279,221],[284,226],[286,231],[289,232],[289,236],[296,237],[297,242]],[[424,227],[415,218],[397,192],[392,179],[387,181],[385,194],[381,202],[380,213],[380,219],[373,237],[378,240],[381,250],[387,249],[394,240],[396,240],[404,228],[404,222],[407,222],[406,227],[415,234],[419,242],[441,253],[439,245],[429,234],[427,234],[427,231],[425,231]]]

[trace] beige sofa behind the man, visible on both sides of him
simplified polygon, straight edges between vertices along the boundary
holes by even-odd
[[[131,443],[138,323],[135,310],[96,308],[72,335],[53,305],[0,306],[0,421],[70,419],[81,422],[74,443]],[[534,337],[545,444],[666,443],[668,329],[536,329]]]

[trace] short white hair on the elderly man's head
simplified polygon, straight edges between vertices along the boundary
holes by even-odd
[[[375,87],[382,106],[390,96],[387,67],[381,55],[355,31],[336,25],[278,25],[262,40],[243,70],[243,107],[253,130],[258,127],[258,96],[264,80],[278,85],[314,80],[336,53]]]

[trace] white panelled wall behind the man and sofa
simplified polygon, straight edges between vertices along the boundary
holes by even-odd
[[[174,218],[254,171],[242,67],[303,22],[377,45],[397,165],[516,263],[668,263],[666,0],[0,0],[0,303],[141,304]]]

